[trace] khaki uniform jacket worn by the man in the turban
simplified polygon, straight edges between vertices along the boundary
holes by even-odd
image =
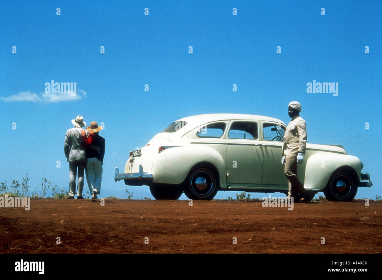
[[[305,154],[306,149],[306,122],[300,116],[295,116],[289,122],[284,134],[283,156],[297,156]]]

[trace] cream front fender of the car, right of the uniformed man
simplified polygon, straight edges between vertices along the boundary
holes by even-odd
[[[361,175],[361,161],[356,156],[348,154],[314,154],[306,163],[304,188],[307,190],[322,190],[333,172],[343,166],[350,166]]]

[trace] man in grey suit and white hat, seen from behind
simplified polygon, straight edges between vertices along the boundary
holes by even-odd
[[[76,192],[76,176],[78,174],[77,199],[83,199],[84,171],[86,166],[86,145],[81,135],[82,127],[86,126],[82,116],[72,120],[73,128],[66,130],[64,152],[69,162],[69,199],[74,199]]]

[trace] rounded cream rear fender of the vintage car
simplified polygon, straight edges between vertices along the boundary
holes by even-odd
[[[155,156],[152,162],[153,183],[180,184],[198,163],[213,164],[220,182],[225,182],[226,164],[223,156],[206,146],[179,146],[168,148]]]

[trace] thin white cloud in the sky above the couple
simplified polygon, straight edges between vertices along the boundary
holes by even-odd
[[[83,97],[86,97],[86,92],[79,90]],[[14,101],[31,101],[31,102],[45,102],[45,103],[57,103],[61,101],[75,101],[83,98],[81,95],[71,95],[71,93],[32,93],[29,90],[27,92],[19,92],[18,94],[10,95],[8,97],[0,97],[5,102]]]

